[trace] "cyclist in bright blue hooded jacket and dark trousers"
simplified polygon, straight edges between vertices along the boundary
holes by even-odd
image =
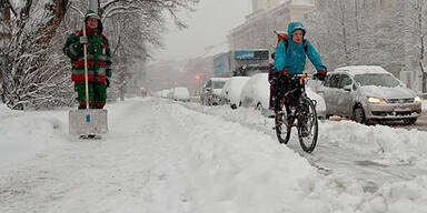
[[[300,90],[297,90],[285,100],[285,94],[298,87],[301,87],[298,79],[292,79],[292,74],[302,74],[306,65],[306,59],[311,61],[317,70],[317,78],[325,80],[326,67],[321,62],[320,55],[311,43],[305,39],[306,28],[301,22],[290,22],[288,26],[288,36],[278,33],[278,45],[276,48],[275,65],[272,68],[275,80],[274,102],[275,112],[281,111],[281,105],[285,104],[288,115],[288,123],[292,124],[290,106],[295,106],[298,98],[301,95]]]

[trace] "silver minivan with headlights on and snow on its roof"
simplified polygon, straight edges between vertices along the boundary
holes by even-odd
[[[319,93],[326,114],[359,123],[403,120],[413,124],[421,113],[421,100],[391,73],[377,65],[355,65],[329,72]]]

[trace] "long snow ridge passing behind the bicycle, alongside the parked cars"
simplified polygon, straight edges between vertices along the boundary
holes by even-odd
[[[196,105],[191,108],[197,109]],[[274,126],[272,119],[266,119],[260,112],[252,109],[239,108],[238,110],[230,110],[229,106],[224,105],[201,108],[202,112],[222,115],[229,121],[264,129],[274,134],[271,130]],[[405,130],[386,125],[361,125],[351,121],[325,121],[319,125],[318,141],[331,146],[346,148],[366,154],[376,154],[378,155],[377,161],[385,164],[415,163],[421,166],[427,165],[426,138],[427,132],[417,130]]]

